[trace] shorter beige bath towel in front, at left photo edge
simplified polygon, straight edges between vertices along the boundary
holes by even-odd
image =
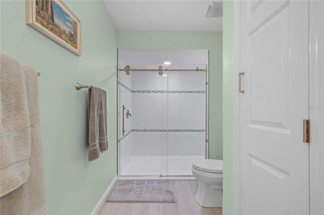
[[[1,196],[17,189],[30,174],[30,123],[23,68],[1,52]]]

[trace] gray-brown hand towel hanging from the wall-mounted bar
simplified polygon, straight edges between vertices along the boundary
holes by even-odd
[[[108,150],[106,91],[91,86],[89,95],[89,161]]]

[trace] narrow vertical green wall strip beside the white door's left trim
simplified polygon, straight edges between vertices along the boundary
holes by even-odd
[[[223,2],[223,214],[232,212],[233,2]]]

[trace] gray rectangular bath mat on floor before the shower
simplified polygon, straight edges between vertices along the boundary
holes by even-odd
[[[106,202],[175,202],[171,180],[120,180]]]

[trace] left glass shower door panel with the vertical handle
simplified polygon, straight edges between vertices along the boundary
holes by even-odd
[[[118,123],[124,115],[125,126],[125,134],[118,133],[118,175],[168,175],[168,73],[119,71],[118,81]],[[132,117],[126,118],[123,105]]]

